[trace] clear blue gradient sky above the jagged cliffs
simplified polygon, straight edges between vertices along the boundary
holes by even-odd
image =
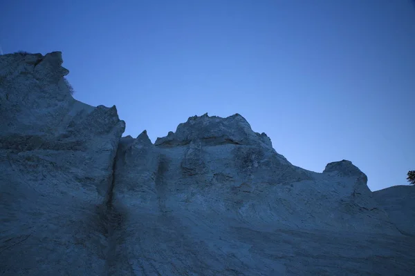
[[[4,53],[59,50],[74,97],[152,141],[239,113],[291,163],[349,159],[371,190],[415,170],[410,0],[1,1]]]

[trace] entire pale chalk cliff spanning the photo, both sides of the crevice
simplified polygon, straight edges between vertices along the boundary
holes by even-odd
[[[66,74],[0,56],[3,275],[412,275],[406,213],[350,161],[293,166],[241,115],[120,138]]]

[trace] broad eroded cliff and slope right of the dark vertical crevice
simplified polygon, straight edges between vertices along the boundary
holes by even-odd
[[[121,141],[114,275],[412,273],[414,239],[351,161],[297,168],[240,115],[190,117],[154,145],[145,132]]]

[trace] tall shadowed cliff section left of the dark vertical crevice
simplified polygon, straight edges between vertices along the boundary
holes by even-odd
[[[3,275],[104,273],[105,201],[124,121],[115,106],[73,99],[61,65],[60,52],[0,55]]]

